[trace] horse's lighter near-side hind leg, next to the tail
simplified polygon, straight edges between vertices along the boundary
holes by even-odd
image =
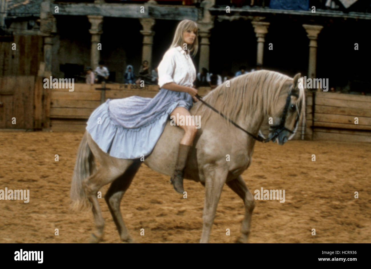
[[[96,173],[83,180],[82,185],[86,196],[92,204],[93,217],[96,226],[96,233],[92,234],[91,243],[99,243],[103,239],[104,219],[101,207],[99,206],[97,193],[101,187],[124,174],[125,168],[131,165],[131,163],[132,162],[128,163],[127,166],[118,164],[112,166],[101,164]]]

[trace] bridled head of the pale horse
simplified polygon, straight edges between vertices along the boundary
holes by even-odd
[[[298,129],[299,120],[305,114],[304,89],[298,88],[301,73],[292,82],[285,83],[279,93],[278,101],[272,109],[273,124],[270,125],[268,138],[283,145],[290,140]]]

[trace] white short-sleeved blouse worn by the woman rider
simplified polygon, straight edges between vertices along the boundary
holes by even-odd
[[[196,79],[196,68],[193,61],[181,46],[168,49],[157,69],[160,88],[170,82],[192,87]]]

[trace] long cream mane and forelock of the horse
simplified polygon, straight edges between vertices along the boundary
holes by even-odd
[[[287,89],[289,89],[292,81],[293,78],[279,72],[259,70],[231,79],[230,87],[227,87],[225,82],[222,83],[207,94],[203,100],[214,107],[220,100],[221,106],[216,108],[232,120],[235,120],[240,112],[242,115],[252,115],[256,111],[261,111],[264,115],[272,115],[272,110],[283,86],[288,83]],[[302,111],[305,109],[304,96],[304,89],[299,89],[298,102],[302,101]],[[204,122],[209,119],[211,114],[216,114],[201,102],[197,102],[194,106],[193,114],[203,115]],[[298,111],[301,117],[305,114],[302,111]]]

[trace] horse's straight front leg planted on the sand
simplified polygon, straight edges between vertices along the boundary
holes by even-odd
[[[203,212],[203,227],[200,243],[209,243],[211,226],[214,222],[221,190],[226,182],[228,169],[217,164],[208,164],[204,167],[205,176],[205,203]]]

